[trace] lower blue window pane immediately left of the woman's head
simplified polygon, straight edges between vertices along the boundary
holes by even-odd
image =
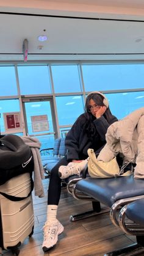
[[[72,125],[84,112],[82,96],[56,97],[59,125]]]

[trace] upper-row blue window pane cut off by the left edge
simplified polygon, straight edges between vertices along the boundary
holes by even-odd
[[[0,96],[18,95],[15,67],[0,67]]]

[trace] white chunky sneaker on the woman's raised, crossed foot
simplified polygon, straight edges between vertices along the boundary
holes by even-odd
[[[67,166],[59,167],[59,177],[64,179],[74,174],[80,175],[81,171],[84,170],[85,167],[87,167],[87,159],[80,163],[70,162]]]

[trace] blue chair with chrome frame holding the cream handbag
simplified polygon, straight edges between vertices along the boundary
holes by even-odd
[[[142,179],[135,179],[133,175],[119,178],[85,178],[77,181],[72,189],[74,198],[78,200],[91,200],[103,203],[106,207],[99,213],[92,211],[92,215],[110,211],[110,219],[119,227],[117,210],[137,199],[144,198],[144,183]],[[81,215],[81,214],[80,214]],[[89,216],[92,216],[89,215]],[[84,216],[84,213],[82,213]],[[86,214],[86,217],[87,214]],[[71,221],[79,219],[79,214],[70,216]]]

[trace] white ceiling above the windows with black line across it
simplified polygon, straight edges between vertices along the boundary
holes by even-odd
[[[143,60],[144,1],[0,1],[0,32],[2,61],[23,62],[25,38],[28,61]]]

